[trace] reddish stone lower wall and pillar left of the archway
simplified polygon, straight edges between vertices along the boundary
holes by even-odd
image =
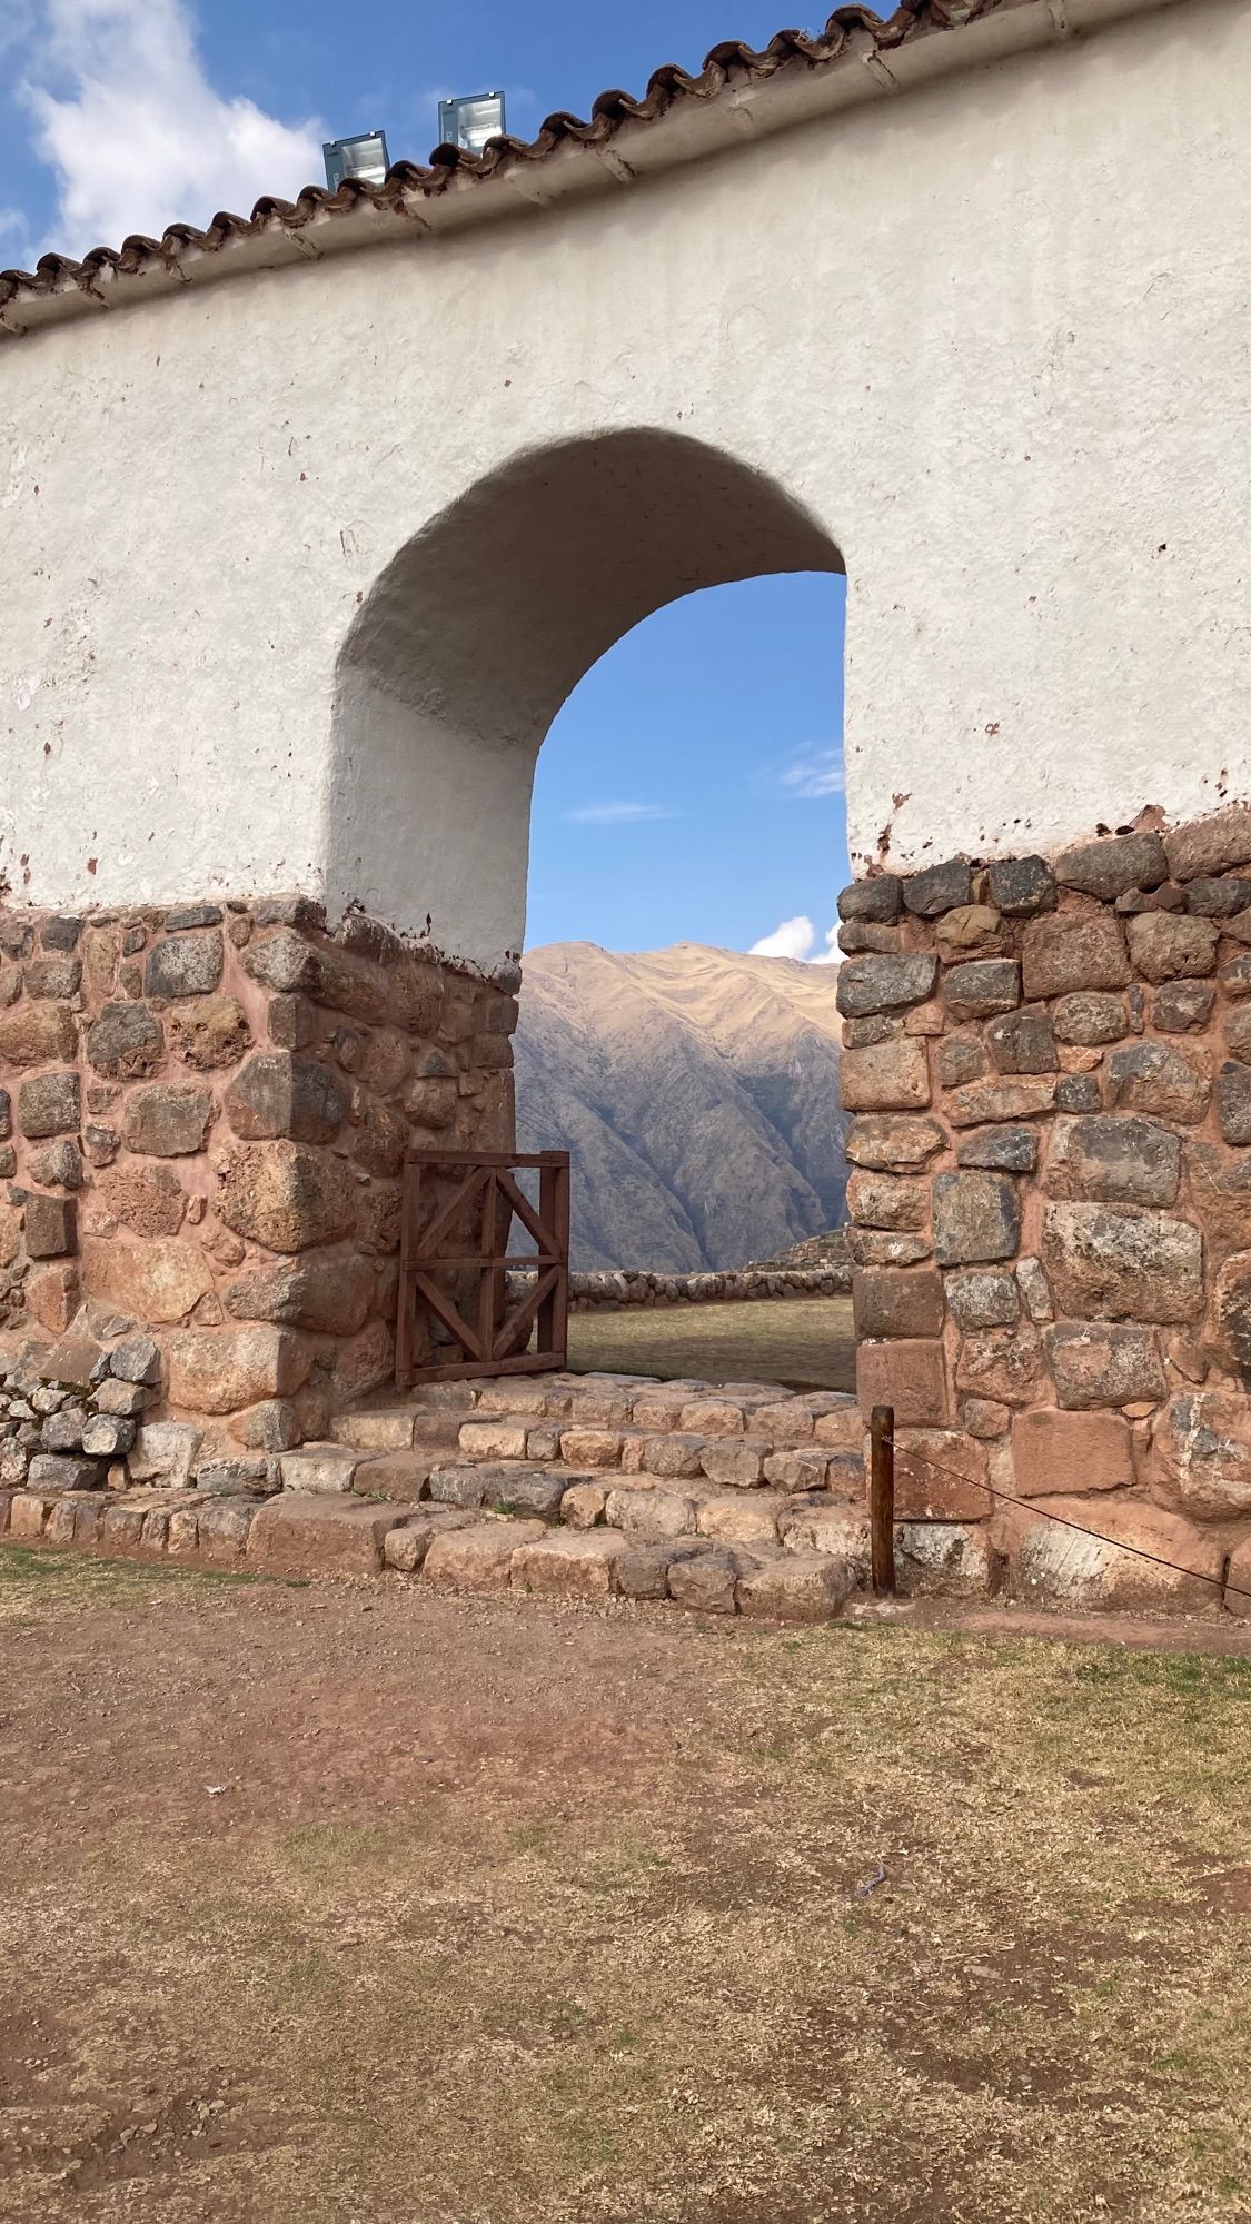
[[[514,987],[305,898],[4,914],[4,1341],[129,1319],[158,1414],[318,1434],[392,1372],[405,1150],[512,1143]]]

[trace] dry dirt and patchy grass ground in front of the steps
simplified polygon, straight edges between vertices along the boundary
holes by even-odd
[[[0,2217],[1244,2224],[1249,1724],[1011,1624],[0,1552]]]

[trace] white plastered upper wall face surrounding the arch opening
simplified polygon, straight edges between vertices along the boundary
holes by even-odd
[[[4,342],[13,894],[341,901],[334,852],[452,954],[516,947],[532,736],[456,785],[454,714],[381,718],[363,765],[336,658],[467,487],[637,425],[841,549],[859,863],[1251,796],[1249,167],[1251,0],[1186,0],[612,198]]]

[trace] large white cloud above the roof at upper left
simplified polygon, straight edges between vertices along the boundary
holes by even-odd
[[[185,0],[45,0],[18,98],[56,171],[58,254],[249,216],[263,193],[292,200],[323,178],[321,122],[285,125],[209,85]]]

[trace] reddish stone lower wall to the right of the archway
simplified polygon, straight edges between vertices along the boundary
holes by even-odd
[[[839,898],[857,1379],[1206,1563],[1251,1530],[1251,807],[1155,816]]]

